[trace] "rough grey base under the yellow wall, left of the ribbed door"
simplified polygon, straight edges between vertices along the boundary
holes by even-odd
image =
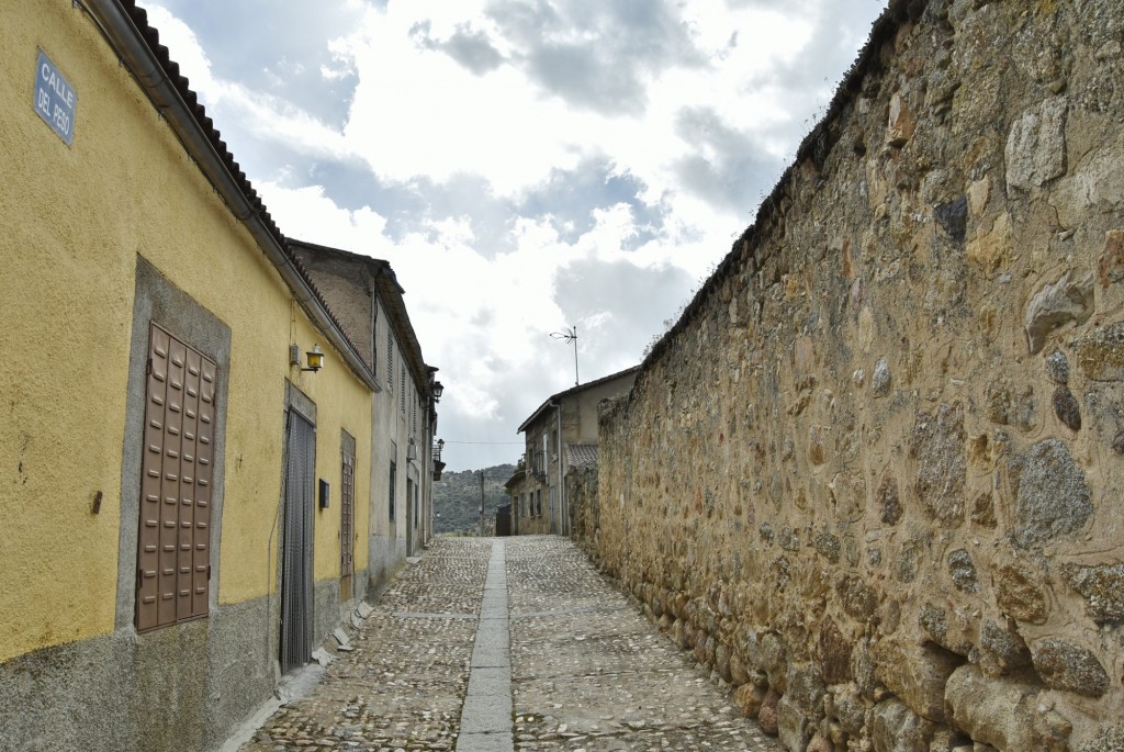
[[[270,618],[269,611],[274,611]],[[277,599],[46,647],[0,664],[4,749],[216,749],[273,691]]]

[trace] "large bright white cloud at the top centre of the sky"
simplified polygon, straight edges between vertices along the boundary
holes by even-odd
[[[561,102],[538,99],[513,69],[477,76],[418,47],[409,30],[426,20],[422,10],[392,3],[386,13],[371,11],[351,40],[361,82],[345,133],[379,174],[397,181],[483,174],[509,194],[552,166],[577,163],[575,145],[588,129],[578,129],[578,118]],[[559,138],[568,126],[572,136]]]

